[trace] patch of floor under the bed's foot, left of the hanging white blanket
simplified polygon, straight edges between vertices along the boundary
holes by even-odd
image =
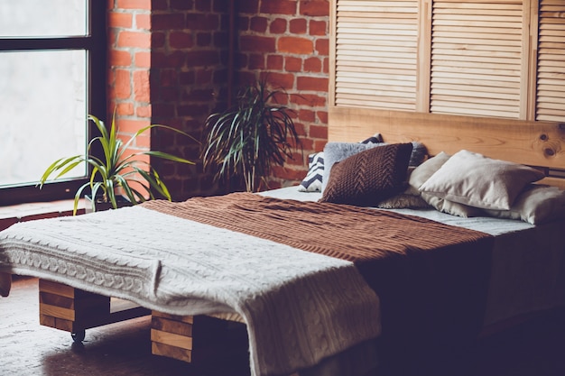
[[[212,335],[217,344],[195,350],[195,362],[189,364],[151,354],[149,316],[88,329],[83,344],[73,344],[68,332],[39,325],[38,306],[35,279],[14,280],[10,296],[0,298],[0,376],[248,374],[245,332]]]

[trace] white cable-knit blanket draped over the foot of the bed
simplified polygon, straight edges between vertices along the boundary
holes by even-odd
[[[255,376],[290,374],[380,334],[378,298],[351,262],[141,206],[13,225],[0,232],[3,271],[173,315],[236,312]]]

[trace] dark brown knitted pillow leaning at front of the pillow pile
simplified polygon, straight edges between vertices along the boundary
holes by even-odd
[[[320,202],[376,206],[404,188],[412,143],[374,147],[332,166]]]

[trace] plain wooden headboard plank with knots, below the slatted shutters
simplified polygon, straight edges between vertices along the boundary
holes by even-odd
[[[329,141],[422,142],[431,155],[466,149],[541,167],[545,184],[565,188],[565,124],[330,106]]]

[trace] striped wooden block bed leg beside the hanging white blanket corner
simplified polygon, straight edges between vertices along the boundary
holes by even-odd
[[[193,316],[174,316],[153,311],[151,352],[183,362],[192,362]]]

